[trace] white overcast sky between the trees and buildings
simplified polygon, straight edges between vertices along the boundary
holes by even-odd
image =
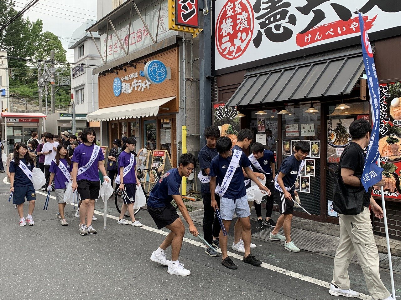
[[[14,8],[19,11],[30,0],[14,0],[14,2],[17,6]],[[68,49],[69,38],[87,19],[97,20],[96,0],[39,0],[24,14],[24,18],[26,17],[32,21],[42,19],[43,32],[50,31],[58,36],[67,50],[67,60],[74,62],[74,51]]]

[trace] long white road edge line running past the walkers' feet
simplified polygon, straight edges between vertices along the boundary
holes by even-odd
[[[9,182],[7,182],[6,178],[3,179],[3,182],[6,183],[6,184],[10,184]],[[39,192],[39,191],[36,191],[36,193],[37,194],[41,194],[43,196],[47,196],[47,193],[45,194],[45,193]],[[56,199],[55,196],[50,196],[50,198]],[[69,203],[69,204],[73,205],[71,203]],[[99,216],[103,216],[103,212],[99,212],[98,210],[95,210],[95,214],[97,214]],[[118,217],[112,216],[112,215],[109,215],[109,214],[107,214],[107,218],[118,220]],[[127,220],[127,222],[129,224],[132,224],[131,221]],[[149,226],[145,226],[145,225],[142,226],[142,227],[138,227],[138,228],[142,228],[144,230],[148,230],[148,231],[151,231],[151,232],[162,234],[164,236],[166,236],[168,234],[168,232],[165,232],[163,230],[159,230],[159,229],[156,229],[156,228],[153,228],[153,227],[149,227]],[[189,244],[192,244],[194,246],[205,247],[205,244],[203,244],[201,242],[198,242],[198,241],[195,241],[195,240],[191,240],[189,238],[184,238],[183,241],[187,242]],[[243,256],[241,256],[239,254],[236,254],[236,253],[233,253],[233,252],[229,252],[229,251],[227,251],[227,254],[230,257],[237,258],[238,260],[243,260]],[[310,277],[310,276],[306,276],[306,275],[303,275],[303,274],[300,274],[300,273],[292,272],[290,270],[286,270],[286,269],[283,269],[283,268],[280,268],[280,267],[277,267],[277,266],[273,266],[273,265],[267,264],[265,262],[262,262],[262,264],[260,266],[262,268],[267,269],[267,270],[271,270],[273,272],[284,274],[284,275],[290,276],[292,278],[296,278],[296,279],[303,280],[303,281],[306,281],[306,282],[309,282],[309,283],[313,283],[313,284],[316,284],[318,286],[323,286],[324,288],[330,288],[330,282],[319,280],[319,279],[316,279],[316,278],[313,278],[313,277]],[[358,298],[359,299],[363,299],[363,300],[371,300],[372,299],[371,296],[368,296],[366,294],[360,294],[360,296]]]

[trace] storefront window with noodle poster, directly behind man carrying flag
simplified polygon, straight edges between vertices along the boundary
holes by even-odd
[[[324,140],[327,142],[326,164],[326,215],[337,217],[337,213],[331,209],[333,195],[333,172],[338,171],[340,157],[344,148],[349,144],[351,137],[349,126],[352,121],[360,118],[369,119],[369,102],[347,103],[349,108],[344,110],[334,109],[335,105],[329,106],[327,120],[327,134]]]

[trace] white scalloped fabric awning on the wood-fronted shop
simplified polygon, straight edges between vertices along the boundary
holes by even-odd
[[[128,118],[140,118],[157,116],[160,106],[175,99],[176,97],[168,97],[126,105],[101,108],[86,116],[91,121],[110,121]]]

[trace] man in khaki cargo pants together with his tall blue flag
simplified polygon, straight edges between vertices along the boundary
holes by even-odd
[[[368,121],[363,119],[352,122],[349,127],[352,140],[341,155],[339,173],[341,174],[344,188],[346,188],[348,192],[356,192],[356,190],[360,190],[361,186],[363,186],[365,192],[362,199],[360,199],[361,202],[363,201],[363,205],[359,213],[355,214],[355,212],[352,211],[347,214],[346,208],[342,210],[342,214],[338,213],[340,222],[340,245],[337,248],[334,258],[333,280],[330,285],[329,293],[334,296],[342,295],[349,298],[360,296],[358,292],[350,289],[350,279],[347,270],[352,257],[356,253],[365,276],[365,282],[373,300],[394,300],[395,298],[391,296],[380,279],[379,254],[370,219],[369,205],[376,218],[381,219],[384,217],[386,219],[383,187],[381,188],[383,209],[371,196],[371,186],[383,186],[383,169],[380,168],[379,161],[380,91],[371,44],[362,15],[359,12],[358,15],[363,59],[368,77],[367,86],[369,88],[373,128]],[[367,146],[368,151],[365,158],[363,150]],[[378,165],[376,162],[378,162]],[[347,202],[347,199],[344,200]],[[385,225],[387,246],[389,247],[386,220]],[[390,251],[389,264],[393,296],[395,297]]]

